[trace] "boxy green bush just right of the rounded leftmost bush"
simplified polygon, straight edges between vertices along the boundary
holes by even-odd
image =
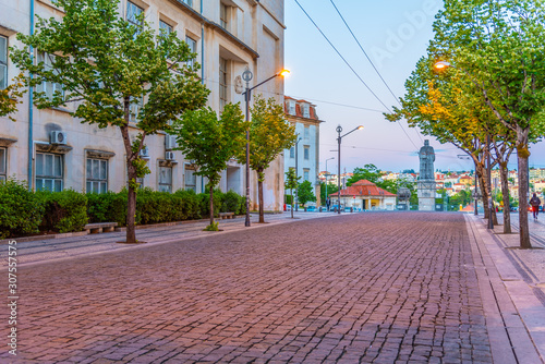
[[[87,223],[87,196],[74,190],[36,193],[45,203],[43,227],[58,232],[81,231]]]

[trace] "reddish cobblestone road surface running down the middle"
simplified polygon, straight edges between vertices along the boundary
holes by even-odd
[[[0,362],[492,363],[473,262],[462,215],[391,213],[22,267]]]

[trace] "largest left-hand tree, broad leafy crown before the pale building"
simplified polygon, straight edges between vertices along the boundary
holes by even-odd
[[[62,85],[63,93],[56,92],[52,97],[37,92],[38,108],[77,102],[71,114],[82,122],[119,128],[129,178],[126,242],[135,243],[136,179],[149,172],[140,157],[145,137],[169,130],[169,121],[185,110],[204,106],[209,92],[196,74],[198,65],[186,65],[185,61],[195,54],[175,32],[160,34],[157,41],[143,15],[138,17],[141,26],[120,16],[119,1],[52,2],[64,10],[62,20],[38,17],[34,35],[17,34],[25,47],[12,48],[12,60],[34,75],[25,77],[29,86],[43,82]],[[31,59],[31,46],[45,52],[51,68]],[[131,105],[143,100],[145,104],[132,124]],[[132,141],[131,126],[138,130]]]

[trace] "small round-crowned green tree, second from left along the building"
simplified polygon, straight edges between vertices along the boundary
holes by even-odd
[[[185,111],[172,125],[179,147],[186,158],[198,167],[196,175],[208,179],[210,202],[210,225],[208,230],[217,230],[214,223],[214,187],[221,179],[221,171],[238,150],[244,148],[247,123],[239,105],[228,104],[218,119],[210,108]]]

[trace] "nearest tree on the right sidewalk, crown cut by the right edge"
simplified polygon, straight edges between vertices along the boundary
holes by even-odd
[[[545,135],[545,2],[446,0],[432,47],[472,83],[496,121],[516,135],[519,203],[528,209],[529,143]],[[520,245],[531,247],[528,214]]]

